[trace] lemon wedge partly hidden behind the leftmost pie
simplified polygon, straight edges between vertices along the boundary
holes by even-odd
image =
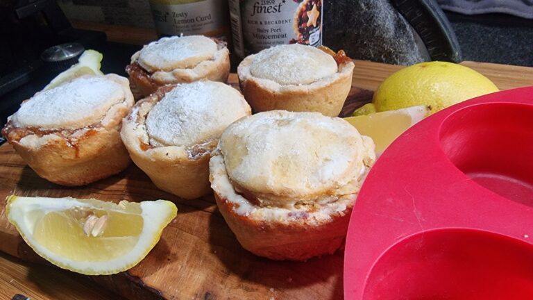
[[[78,63],[76,65],[69,67],[69,69],[61,72],[56,78],[53,78],[52,81],[44,87],[44,90],[56,88],[56,86],[82,75],[103,75],[100,71],[100,62],[102,61],[102,58],[103,55],[99,51],[91,49],[85,50],[80,58],[78,58]]]

